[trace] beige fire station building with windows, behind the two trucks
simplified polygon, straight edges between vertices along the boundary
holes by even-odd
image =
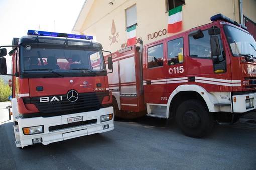
[[[168,11],[177,6],[182,6],[179,32],[210,23],[221,13],[256,39],[256,0],[85,0],[72,32],[95,36],[115,52],[127,46],[127,29],[135,27],[137,45],[138,39],[148,44],[176,34],[167,29]]]

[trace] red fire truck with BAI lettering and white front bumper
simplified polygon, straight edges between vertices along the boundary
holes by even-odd
[[[102,45],[92,36],[29,30],[11,46],[16,146],[44,145],[114,129]],[[0,48],[1,48],[0,47]],[[6,48],[0,73],[7,75]],[[111,67],[109,57],[108,67]],[[92,67],[97,62],[97,67]],[[11,64],[10,64],[11,65]]]

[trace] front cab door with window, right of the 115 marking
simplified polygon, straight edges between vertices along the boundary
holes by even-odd
[[[229,58],[226,58],[220,34],[214,35],[215,40],[219,43],[220,53],[216,56],[213,55],[211,36],[207,28],[187,34],[188,81],[200,85],[208,91],[230,91],[228,88],[232,85],[231,77],[227,73],[227,59]]]

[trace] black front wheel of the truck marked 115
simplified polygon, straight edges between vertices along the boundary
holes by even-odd
[[[213,128],[213,117],[199,100],[181,103],[176,112],[176,122],[181,131],[189,137],[200,138]]]

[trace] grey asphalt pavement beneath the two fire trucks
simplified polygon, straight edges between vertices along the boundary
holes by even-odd
[[[10,102],[0,103],[0,169],[256,167],[256,125],[248,123],[252,120],[248,117],[233,126],[216,124],[213,132],[201,139],[184,136],[174,119],[166,124],[164,119],[145,116],[117,121],[110,132],[19,149],[8,105]]]

